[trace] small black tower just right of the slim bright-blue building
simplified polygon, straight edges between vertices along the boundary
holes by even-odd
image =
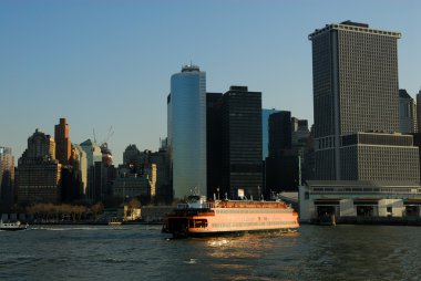
[[[284,155],[291,149],[291,113],[269,115],[269,157]]]

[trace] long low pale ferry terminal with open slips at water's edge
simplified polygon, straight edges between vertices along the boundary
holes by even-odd
[[[382,218],[421,219],[421,186],[413,181],[308,180],[299,187],[302,222]]]

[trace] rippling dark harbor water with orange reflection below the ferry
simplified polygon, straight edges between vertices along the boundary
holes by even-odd
[[[421,228],[168,239],[160,226],[0,231],[0,280],[421,280]]]

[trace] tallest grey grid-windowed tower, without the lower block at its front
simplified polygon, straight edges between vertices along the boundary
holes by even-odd
[[[399,132],[400,37],[351,21],[328,24],[309,35],[317,179],[343,179],[341,136]]]

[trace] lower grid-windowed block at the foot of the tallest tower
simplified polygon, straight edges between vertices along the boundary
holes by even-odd
[[[411,135],[350,134],[341,137],[339,155],[341,180],[420,181],[419,148]]]

